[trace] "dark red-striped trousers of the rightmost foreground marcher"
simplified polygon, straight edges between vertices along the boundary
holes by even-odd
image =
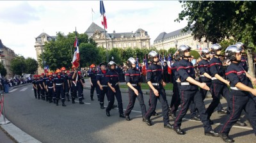
[[[250,96],[234,96],[230,98],[230,114],[227,116],[220,133],[228,135],[232,126],[237,122],[244,110],[248,114],[250,123],[252,124],[253,130],[255,132],[256,126],[256,108],[253,98]],[[255,132],[256,133],[256,132]]]

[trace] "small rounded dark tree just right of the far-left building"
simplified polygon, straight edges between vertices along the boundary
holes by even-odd
[[[10,68],[14,75],[22,75],[22,73],[25,73],[27,69],[25,58],[23,56],[15,57],[11,61]]]

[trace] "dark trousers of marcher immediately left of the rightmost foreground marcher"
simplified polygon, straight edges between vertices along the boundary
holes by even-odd
[[[230,91],[225,84],[215,84],[212,83],[212,102],[209,105],[208,109],[206,110],[208,114],[208,119],[210,119],[214,109],[218,107],[220,103],[220,95],[224,96],[228,103],[228,109],[230,109]]]

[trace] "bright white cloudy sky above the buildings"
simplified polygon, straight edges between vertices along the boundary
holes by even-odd
[[[148,32],[150,44],[162,33],[186,26],[174,22],[182,11],[179,1],[103,1],[108,33]],[[41,33],[84,33],[100,22],[99,1],[0,1],[0,39],[16,54],[36,59],[35,38]],[[94,13],[92,12],[94,11]]]

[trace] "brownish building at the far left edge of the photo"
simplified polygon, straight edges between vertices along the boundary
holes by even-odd
[[[12,78],[13,72],[11,70],[11,61],[17,57],[15,52],[3,45],[2,40],[0,39],[0,63],[3,64],[4,68],[6,69],[6,77]]]

